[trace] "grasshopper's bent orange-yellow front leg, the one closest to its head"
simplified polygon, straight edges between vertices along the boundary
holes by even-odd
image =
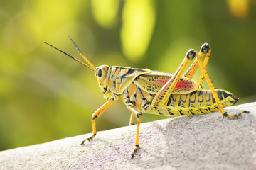
[[[85,140],[82,141],[81,145],[84,145],[85,141],[90,141],[93,139],[93,137],[96,136],[97,130],[96,130],[96,123],[95,123],[95,119],[99,118],[100,115],[110,106],[112,105],[112,103],[114,103],[114,101],[110,100],[107,101],[104,105],[102,105],[100,108],[97,109],[97,111],[95,111],[95,113],[93,113],[92,115],[92,136],[86,138]]]

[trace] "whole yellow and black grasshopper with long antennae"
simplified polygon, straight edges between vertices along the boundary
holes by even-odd
[[[68,37],[70,38],[70,37]],[[73,40],[70,38],[71,42]],[[47,42],[45,42],[47,45]],[[75,45],[75,42],[73,42]],[[50,45],[56,50],[62,50]],[[134,69],[130,67],[109,67],[102,65],[95,67],[90,60],[79,50],[76,49],[87,62],[81,62],[75,57],[63,52],[65,55],[73,58],[80,64],[95,72],[97,82],[104,98],[108,101],[95,111],[92,115],[92,136],[82,140],[81,145],[85,141],[92,140],[97,134],[95,120],[118,98],[122,98],[127,109],[132,112],[129,124],[134,124],[134,117],[137,118],[137,134],[135,140],[135,148],[131,157],[139,149],[139,125],[141,123],[142,113],[153,113],[157,115],[201,115],[220,111],[223,117],[230,119],[241,118],[242,113],[249,111],[241,111],[238,114],[228,114],[223,107],[232,106],[239,98],[235,97],[228,91],[215,89],[206,72],[206,65],[210,57],[210,45],[204,43],[199,52],[190,49],[174,74],[168,72],[152,71],[150,69]],[[203,56],[206,55],[202,62]],[[183,74],[184,69],[190,60],[196,57],[191,67]],[[201,75],[198,82],[192,78],[198,66],[201,69]],[[182,75],[183,74],[183,75]],[[203,90],[203,78],[210,90]]]

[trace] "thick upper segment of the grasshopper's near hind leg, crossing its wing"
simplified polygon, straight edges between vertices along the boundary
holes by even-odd
[[[167,81],[166,84],[164,84],[164,86],[157,92],[156,96],[154,96],[152,106],[154,106],[155,108],[161,108],[161,106],[163,106],[164,103],[166,103],[172,91],[174,91],[174,88],[178,83],[178,80],[180,79],[181,74],[186,68],[186,65],[188,64],[189,60],[192,60],[194,57],[196,57],[196,52],[192,49],[188,50],[183,62],[181,63],[180,67],[178,67],[174,76],[171,77],[171,79],[169,79],[169,81]]]

